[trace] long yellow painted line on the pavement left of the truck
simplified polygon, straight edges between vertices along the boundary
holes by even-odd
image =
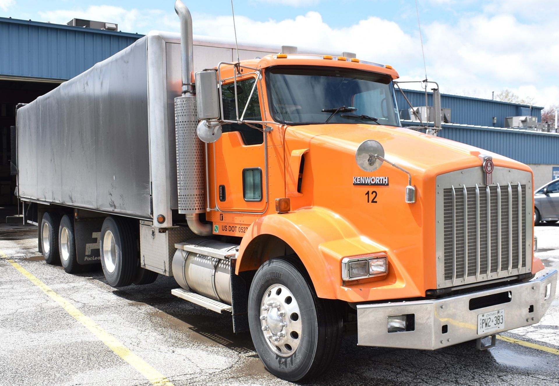
[[[130,351],[122,342],[116,339],[107,331],[103,330],[97,323],[92,321],[90,318],[85,316],[79,309],[75,308],[72,303],[67,301],[65,298],[61,297],[59,294],[54,292],[48,285],[41,282],[33,274],[23,268],[20,264],[17,264],[14,260],[8,258],[4,252],[0,250],[0,256],[12,264],[12,266],[20,271],[20,273],[39,287],[42,292],[50,296],[56,303],[60,304],[66,312],[68,312],[75,320],[82,323],[89,331],[93,332],[93,335],[97,336],[109,349],[115,352],[116,355],[124,359],[133,368],[139,371],[146,379],[149,380],[151,384],[158,386],[174,386],[169,380],[164,377],[163,374],[159,373],[155,368],[149,365],[146,361],[141,359],[134,352]]]

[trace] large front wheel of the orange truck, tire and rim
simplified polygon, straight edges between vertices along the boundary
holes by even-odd
[[[309,283],[298,262],[278,258],[260,266],[250,285],[254,347],[270,373],[292,382],[323,373],[342,337],[337,303],[317,298]]]

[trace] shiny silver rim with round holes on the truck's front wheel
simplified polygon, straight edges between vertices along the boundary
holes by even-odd
[[[301,342],[301,311],[295,296],[282,284],[271,285],[260,302],[264,340],[279,356],[290,356]]]

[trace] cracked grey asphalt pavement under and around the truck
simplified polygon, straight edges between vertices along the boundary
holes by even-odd
[[[173,278],[116,289],[101,270],[66,274],[45,264],[36,235],[0,227],[0,385],[149,385],[155,375],[177,386],[289,384],[264,369],[249,333],[233,333],[230,315],[172,296]],[[536,256],[559,269],[559,224],[536,235]],[[559,291],[540,323],[500,335],[486,351],[359,347],[347,336],[306,384],[559,385]]]

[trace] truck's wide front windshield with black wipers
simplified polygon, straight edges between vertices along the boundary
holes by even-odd
[[[274,66],[266,78],[272,116],[278,122],[400,126],[389,75],[345,68]]]

